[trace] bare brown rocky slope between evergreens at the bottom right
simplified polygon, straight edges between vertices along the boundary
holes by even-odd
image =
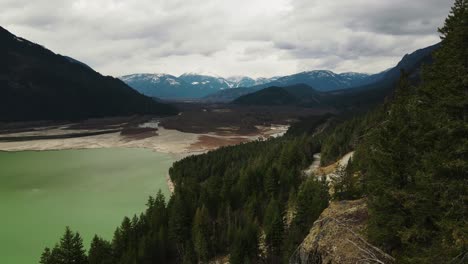
[[[290,263],[393,263],[394,259],[364,237],[365,199],[332,202],[315,221]]]

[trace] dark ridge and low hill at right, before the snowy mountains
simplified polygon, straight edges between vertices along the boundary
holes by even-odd
[[[226,101],[232,99],[237,105],[295,105],[302,107],[332,107],[335,109],[356,109],[381,102],[392,93],[395,83],[401,75],[401,70],[406,71],[410,80],[419,81],[422,64],[432,62],[432,52],[439,44],[417,50],[405,55],[394,68],[385,72],[363,77],[364,85],[353,89],[341,89],[334,91],[319,91],[307,84],[292,86],[271,86],[263,88],[256,86],[251,88],[230,89],[211,95],[211,101]],[[332,73],[327,74],[331,76]],[[366,82],[373,80],[371,83]],[[276,81],[277,82],[277,81]]]

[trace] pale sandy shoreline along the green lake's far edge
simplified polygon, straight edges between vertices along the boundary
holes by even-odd
[[[35,140],[0,141],[0,151],[58,151],[78,149],[101,149],[101,148],[142,148],[169,154],[179,161],[191,155],[200,155],[223,146],[246,143],[258,139],[282,136],[289,126],[271,125],[269,127],[258,127],[258,133],[250,135],[239,135],[236,133],[187,133],[174,129],[159,127],[154,135],[144,138],[121,135],[120,132],[94,134],[90,136],[64,137]],[[30,132],[26,132],[30,134]],[[57,129],[43,129],[35,131],[39,136],[50,136],[56,134]],[[73,133],[73,132],[72,132]],[[18,137],[11,133],[8,136]],[[18,137],[19,138],[19,137]],[[169,172],[166,175],[169,192],[174,193],[174,183]]]

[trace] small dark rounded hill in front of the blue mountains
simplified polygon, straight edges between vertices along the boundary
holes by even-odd
[[[325,94],[306,84],[287,87],[272,86],[243,95],[232,103],[237,105],[298,105],[306,107],[324,106]]]

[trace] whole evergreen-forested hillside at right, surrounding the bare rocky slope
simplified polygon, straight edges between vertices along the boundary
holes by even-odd
[[[327,207],[328,186],[301,170],[355,150],[334,199],[367,197],[367,238],[398,263],[468,259],[468,1],[456,0],[434,62],[419,84],[402,76],[381,107],[328,128],[304,120],[277,139],[225,147],[172,167],[175,194],[125,218],[112,242],[96,238],[89,263],[288,263]],[[323,127],[322,127],[323,128]],[[79,235],[44,252],[84,263]],[[339,250],[339,249],[337,249]],[[73,254],[69,254],[73,252]]]

